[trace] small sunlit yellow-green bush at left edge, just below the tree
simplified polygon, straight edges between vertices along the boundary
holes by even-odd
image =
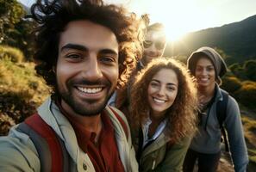
[[[0,46],[0,58],[9,58],[12,62],[21,63],[24,59],[24,55],[18,48]]]

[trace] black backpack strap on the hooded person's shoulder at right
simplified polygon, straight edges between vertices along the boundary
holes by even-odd
[[[220,125],[220,128],[221,128],[221,131],[222,131],[222,135],[223,135],[223,138],[224,138],[225,150],[229,151],[228,137],[227,137],[227,133],[226,133],[226,131],[224,129],[224,126],[223,126],[223,122],[227,117],[228,92],[223,90],[223,89],[220,89],[220,90],[222,92],[223,100],[217,102],[217,104],[216,104],[216,113],[217,113],[217,119],[218,119],[218,122],[219,122],[219,125]]]

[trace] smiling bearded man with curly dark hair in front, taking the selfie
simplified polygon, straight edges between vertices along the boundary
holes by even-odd
[[[0,171],[137,171],[127,120],[106,107],[140,55],[134,15],[101,0],[38,0],[31,14],[39,23],[35,69],[53,94],[0,138]],[[60,140],[56,149],[49,133]],[[46,157],[58,149],[66,152],[57,157],[62,170],[53,152]]]

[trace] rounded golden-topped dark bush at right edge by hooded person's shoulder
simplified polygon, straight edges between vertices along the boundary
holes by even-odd
[[[256,108],[256,82],[243,82],[241,88],[236,91],[235,95],[237,95],[238,101],[246,107]]]

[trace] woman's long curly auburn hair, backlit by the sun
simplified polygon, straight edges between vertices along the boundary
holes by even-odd
[[[165,133],[172,142],[190,136],[197,128],[197,83],[184,64],[174,58],[153,59],[136,76],[131,89],[130,120],[134,127],[145,123],[151,109],[147,100],[147,88],[153,76],[162,69],[171,69],[178,77],[178,94],[165,114],[167,127]]]

